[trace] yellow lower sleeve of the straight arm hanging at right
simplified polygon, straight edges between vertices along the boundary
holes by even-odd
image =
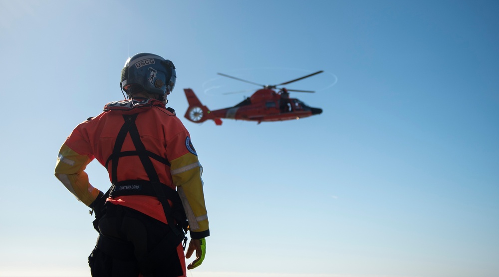
[[[189,228],[193,232],[203,232],[209,229],[203,180],[201,180],[202,173],[203,167],[194,154],[187,153],[171,161],[172,180],[177,186],[189,221]]]

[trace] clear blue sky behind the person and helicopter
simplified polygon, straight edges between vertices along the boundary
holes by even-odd
[[[72,129],[122,99],[128,56],[171,59],[169,106],[205,169],[192,277],[499,276],[498,1],[0,0],[0,277],[90,276],[97,233],[53,176]],[[321,115],[202,125],[257,88]],[[92,163],[91,183],[107,190]]]

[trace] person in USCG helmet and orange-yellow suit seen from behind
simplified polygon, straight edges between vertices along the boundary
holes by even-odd
[[[128,58],[121,72],[128,99],[106,104],[60,149],[55,176],[95,211],[93,277],[185,277],[187,229],[186,258],[196,251],[187,268],[204,260],[210,231],[203,168],[189,132],[173,109],[165,108],[176,79],[170,60],[150,53]],[[90,185],[84,171],[94,158],[109,172],[106,193]]]

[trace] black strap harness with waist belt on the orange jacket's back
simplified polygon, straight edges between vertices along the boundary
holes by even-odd
[[[135,124],[137,115],[138,113],[133,115],[123,115],[125,123],[116,137],[113,153],[109,156],[105,164],[106,168],[108,168],[109,162],[111,162],[112,185],[106,193],[107,195],[104,195],[104,199],[108,196],[114,198],[124,195],[148,195],[157,197],[163,206],[166,220],[171,230],[176,236],[184,236],[184,234],[187,234],[188,223],[182,206],[182,201],[177,191],[160,182],[158,173],[156,172],[151,159],[155,159],[168,166],[170,166],[170,162],[168,159],[146,149],[140,139],[139,131],[137,129],[137,125]],[[121,151],[127,134],[130,134],[130,138],[135,146],[134,151]],[[121,157],[126,156],[139,156],[142,166],[149,177],[149,181],[126,180],[118,182],[118,162]],[[173,207],[170,207],[168,200],[172,201]],[[184,234],[182,234],[181,230],[184,231]],[[184,245],[186,241],[187,238],[184,236]]]

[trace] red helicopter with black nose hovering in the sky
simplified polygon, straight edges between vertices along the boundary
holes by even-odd
[[[208,107],[201,103],[192,89],[185,88],[184,92],[186,94],[189,107],[187,108],[184,117],[194,123],[202,123],[208,119],[211,119],[215,121],[216,125],[222,125],[222,118],[256,121],[259,124],[262,121],[296,120],[321,114],[322,109],[309,107],[302,101],[289,97],[290,91],[308,93],[313,93],[315,91],[286,89],[283,87],[278,88],[278,86],[287,85],[322,72],[324,71],[320,70],[277,85],[262,85],[227,74],[218,73],[219,75],[261,86],[263,88],[255,91],[250,97],[247,97],[241,103],[233,107],[219,110],[208,109]]]

